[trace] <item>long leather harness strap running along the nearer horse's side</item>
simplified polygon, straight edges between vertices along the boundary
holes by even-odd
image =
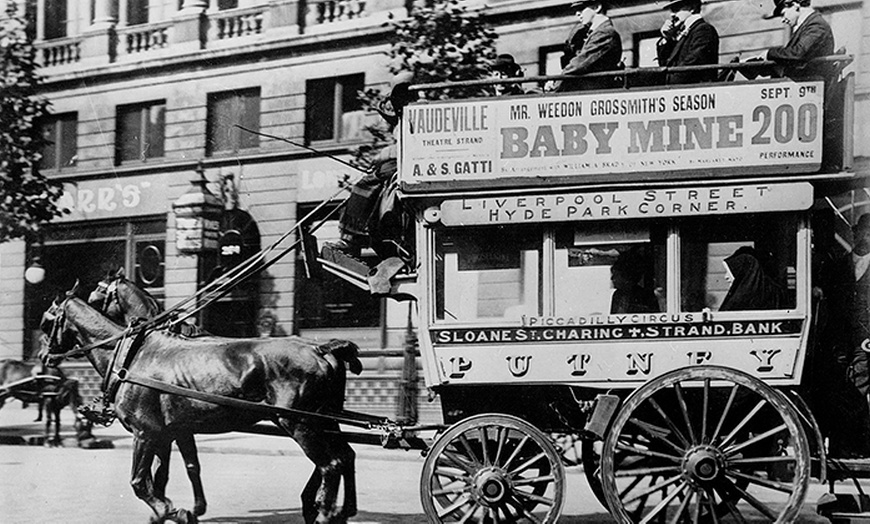
[[[363,422],[356,419],[345,418],[347,415],[351,415],[353,413],[349,411],[342,410],[337,414],[332,413],[320,413],[314,411],[305,411],[302,409],[294,409],[294,408],[285,408],[282,406],[271,406],[268,404],[262,404],[260,402],[251,402],[250,400],[242,400],[238,398],[225,397],[223,395],[215,395],[213,393],[206,393],[204,391],[197,391],[195,389],[185,388],[181,386],[176,386],[174,384],[169,384],[167,382],[163,382],[160,380],[155,380],[149,377],[142,377],[137,375],[131,375],[129,373],[124,373],[121,376],[121,380],[124,382],[129,382],[131,384],[135,384],[137,386],[144,386],[146,388],[156,389],[157,391],[162,391],[163,393],[170,393],[172,395],[179,395],[182,397],[192,398],[194,400],[202,400],[204,402],[210,402],[212,404],[217,404],[218,406],[224,406],[228,408],[235,409],[244,409],[249,411],[255,411],[258,413],[263,413],[266,415],[284,415],[284,416],[306,416],[312,418],[319,418],[323,420],[334,420],[336,422],[340,422],[342,424],[346,424],[348,426],[356,426],[361,428],[372,429],[374,423],[371,421]],[[385,423],[387,421],[383,419],[378,419],[379,422]]]

